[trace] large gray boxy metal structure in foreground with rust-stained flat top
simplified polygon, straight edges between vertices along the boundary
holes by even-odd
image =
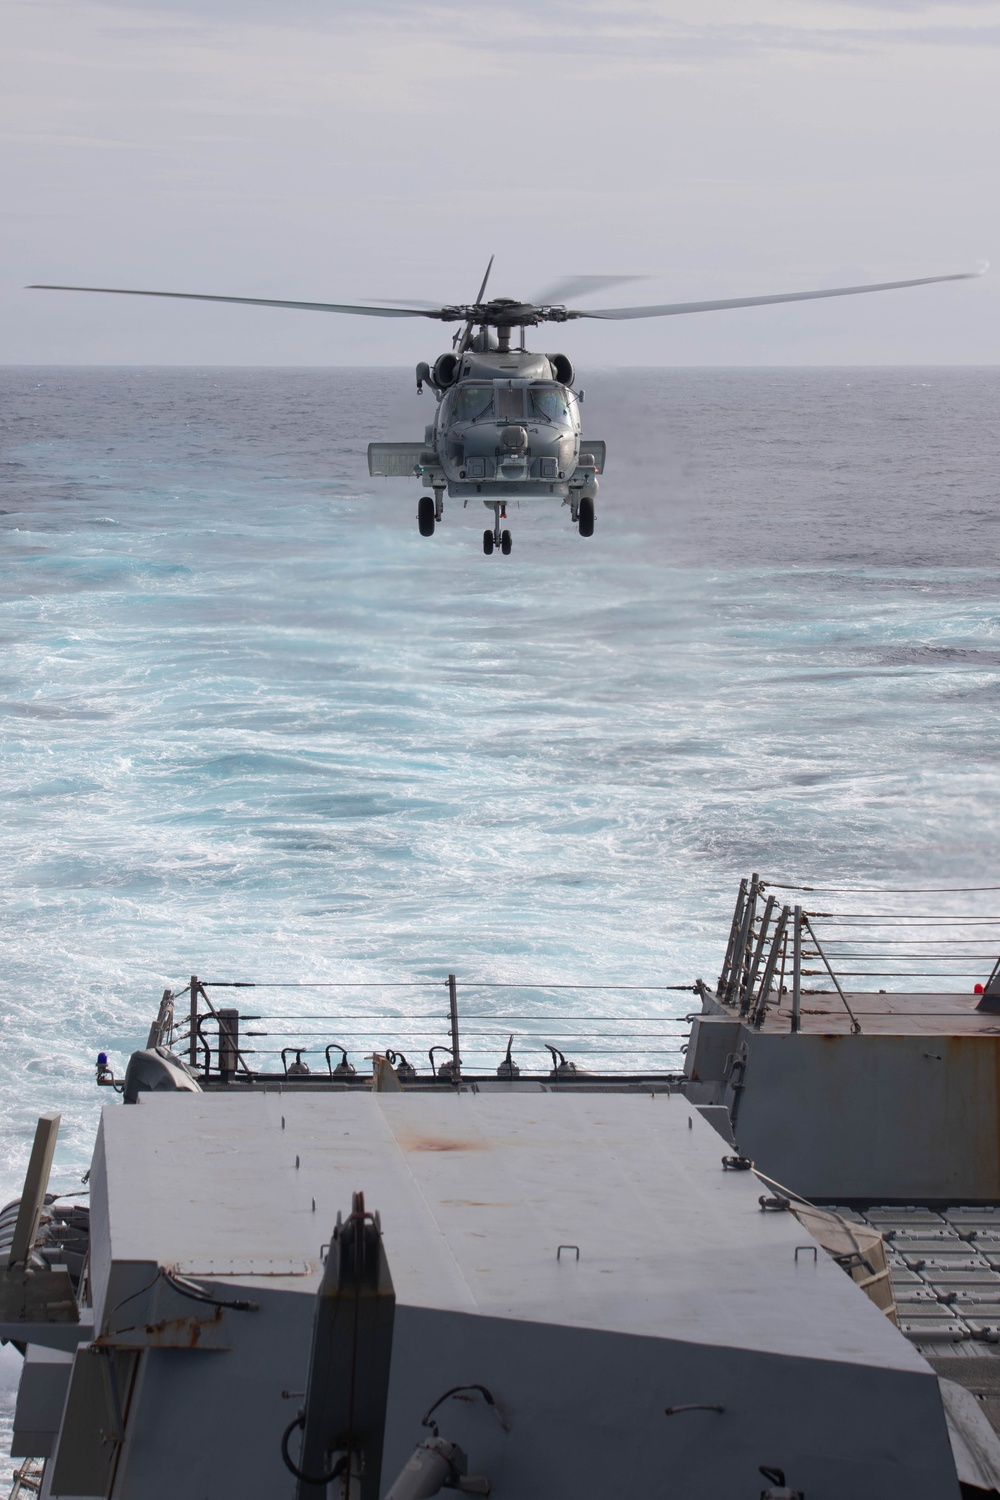
[[[31,1330],[64,1378],[63,1401],[33,1396],[42,1492],[291,1497],[282,1434],[330,1226],[360,1185],[396,1296],[387,1480],[421,1414],[475,1384],[504,1425],[450,1401],[441,1432],[495,1496],[756,1496],[762,1466],[811,1500],[957,1492],[933,1372],[721,1170],[681,1095],[472,1089],[106,1108],[79,1323],[72,1341]]]

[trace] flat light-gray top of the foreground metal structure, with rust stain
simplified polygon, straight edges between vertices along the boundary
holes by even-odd
[[[400,1302],[919,1371],[724,1152],[681,1096],[153,1094],[105,1113],[93,1180],[127,1263],[238,1256],[235,1280],[312,1292],[363,1185]]]

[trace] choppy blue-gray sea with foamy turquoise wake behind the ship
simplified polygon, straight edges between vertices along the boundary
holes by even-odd
[[[0,370],[3,1197],[42,1108],[78,1186],[97,1050],[192,972],[403,1028],[454,970],[559,1044],[684,1016],[538,986],[712,978],[751,868],[1000,885],[1000,370],[583,384],[594,538],[534,502],[486,558],[367,476],[408,370]]]

